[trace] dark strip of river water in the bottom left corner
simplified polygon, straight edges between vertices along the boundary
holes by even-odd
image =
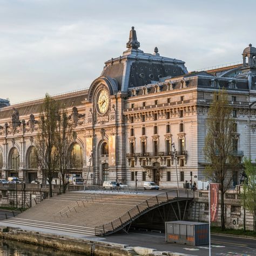
[[[24,244],[22,242],[0,240],[0,256],[81,256],[83,254],[70,253],[46,248],[42,246]]]

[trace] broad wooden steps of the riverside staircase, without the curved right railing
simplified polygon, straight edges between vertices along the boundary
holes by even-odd
[[[7,226],[21,225],[23,229],[24,226],[28,226],[95,235],[97,225],[109,223],[149,197],[137,194],[69,192],[46,199],[2,223]]]

